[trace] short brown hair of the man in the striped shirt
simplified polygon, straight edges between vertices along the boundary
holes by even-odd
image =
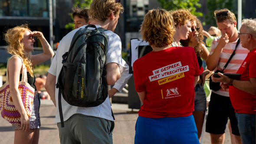
[[[221,14],[221,13],[223,13],[223,14]],[[216,16],[216,14],[220,14],[220,15]],[[235,14],[232,13],[228,9],[215,10],[214,11],[214,16],[215,16],[214,18],[215,18],[217,23],[222,23],[226,19],[229,19],[231,23],[234,23],[236,21]]]

